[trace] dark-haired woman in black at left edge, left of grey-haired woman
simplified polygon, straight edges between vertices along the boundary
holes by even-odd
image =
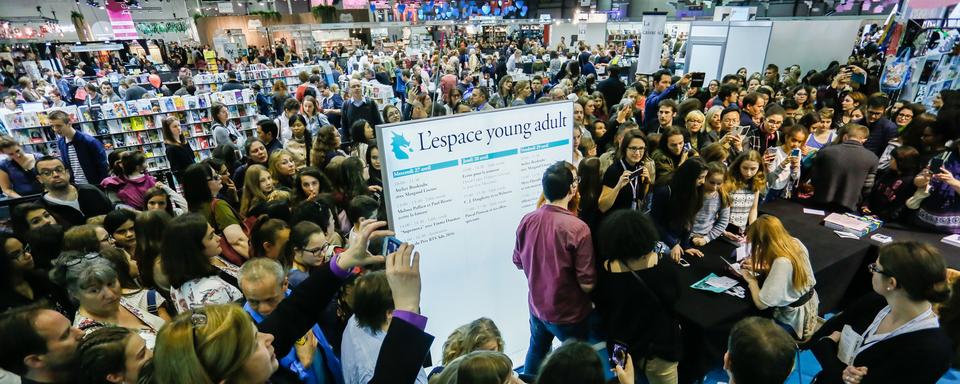
[[[30,246],[14,235],[0,233],[0,313],[40,300],[68,319],[77,310],[67,293],[36,268]]]

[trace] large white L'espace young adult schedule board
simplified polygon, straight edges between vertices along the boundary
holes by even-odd
[[[523,364],[527,282],[513,264],[517,225],[543,172],[572,159],[573,103],[534,104],[377,127],[390,227],[416,245],[422,311],[439,364],[443,341],[480,317]]]

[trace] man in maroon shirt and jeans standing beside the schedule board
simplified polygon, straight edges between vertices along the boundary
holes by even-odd
[[[530,347],[524,373],[536,375],[553,338],[593,341],[588,293],[596,282],[590,229],[567,204],[577,194],[577,177],[560,161],[543,174],[548,203],[528,213],[517,228],[513,263],[530,289]]]

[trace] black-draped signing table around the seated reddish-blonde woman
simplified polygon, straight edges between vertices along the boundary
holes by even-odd
[[[833,229],[824,226],[823,216],[803,213],[803,207],[792,202],[773,202],[762,205],[761,213],[777,216],[790,231],[807,247],[810,264],[817,279],[817,295],[820,298],[821,314],[842,308],[849,298],[848,292],[866,292],[869,279],[862,280],[866,265],[876,255],[876,247],[862,240],[840,238]],[[749,299],[733,296],[727,292],[716,293],[691,286],[704,280],[711,273],[719,277],[736,278],[721,257],[734,261],[736,247],[724,240],[715,240],[702,247],[703,258],[686,256],[689,267],[676,266],[680,284],[684,287],[674,306],[681,319],[684,338],[684,359],[680,364],[681,382],[702,377],[722,361],[727,347],[727,336],[733,325],[748,316],[761,315]],[[746,290],[746,283],[738,280],[737,286]]]

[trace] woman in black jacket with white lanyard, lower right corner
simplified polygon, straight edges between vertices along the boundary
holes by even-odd
[[[810,345],[823,367],[817,383],[937,382],[952,353],[931,304],[950,295],[943,256],[930,244],[896,242],[880,247],[868,268],[883,300],[871,294],[824,324],[818,333],[832,333]],[[852,332],[841,333],[847,326]],[[841,361],[838,350],[849,343],[855,348]]]

